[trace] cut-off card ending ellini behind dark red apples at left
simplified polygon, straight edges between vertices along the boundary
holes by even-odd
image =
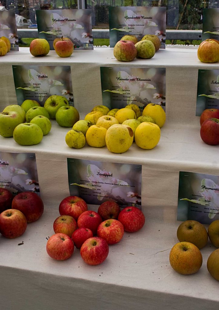
[[[0,152],[0,187],[12,194],[40,194],[35,153]]]

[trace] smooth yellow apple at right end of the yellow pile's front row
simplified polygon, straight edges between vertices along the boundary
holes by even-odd
[[[160,140],[160,128],[150,122],[143,122],[137,126],[135,131],[135,143],[140,148],[150,150],[154,148]]]

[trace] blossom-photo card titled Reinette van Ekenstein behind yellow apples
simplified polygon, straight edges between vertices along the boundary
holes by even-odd
[[[165,111],[165,68],[101,67],[102,99],[108,108],[136,104],[142,111],[149,103]]]

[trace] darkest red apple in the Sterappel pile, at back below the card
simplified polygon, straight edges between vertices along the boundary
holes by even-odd
[[[118,219],[120,207],[115,201],[105,201],[99,206],[97,213],[105,221],[106,219]]]

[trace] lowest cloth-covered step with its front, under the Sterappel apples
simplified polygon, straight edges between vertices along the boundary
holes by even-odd
[[[218,281],[206,266],[215,247],[208,241],[201,249],[200,270],[180,275],[169,263],[169,252],[178,242],[180,222],[171,220],[175,210],[171,206],[147,207],[144,213],[144,227],[125,232],[118,244],[110,246],[105,262],[97,266],[84,263],[76,248],[66,261],[47,255],[47,239],[54,233],[53,222],[59,216],[57,204],[46,205],[42,217],[28,224],[21,237],[1,236],[4,310],[217,309]]]

